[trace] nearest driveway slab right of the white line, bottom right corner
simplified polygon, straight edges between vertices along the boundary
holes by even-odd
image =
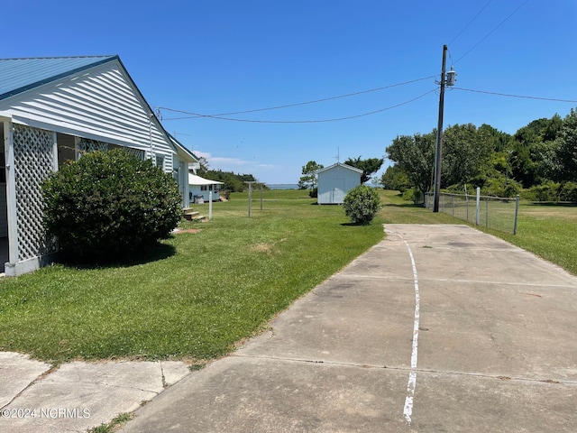
[[[572,433],[577,426],[576,393],[575,384],[419,373],[418,414],[411,430]]]

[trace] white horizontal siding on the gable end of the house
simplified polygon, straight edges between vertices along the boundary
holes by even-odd
[[[152,151],[172,168],[175,147],[117,60],[8,97],[0,111],[14,123]]]

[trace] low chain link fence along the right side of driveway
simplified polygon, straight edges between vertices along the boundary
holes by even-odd
[[[434,194],[427,192],[425,206],[433,209]],[[439,211],[477,226],[517,234],[519,196],[500,198],[470,194],[439,194]]]

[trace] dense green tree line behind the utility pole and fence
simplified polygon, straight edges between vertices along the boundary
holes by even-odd
[[[436,130],[399,135],[385,152],[394,164],[380,177],[386,189],[422,200],[433,189]],[[454,124],[443,134],[441,189],[540,201],[577,202],[577,112],[554,115],[507,134],[482,124]]]

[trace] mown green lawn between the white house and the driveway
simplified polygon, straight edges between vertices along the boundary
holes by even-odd
[[[71,359],[213,359],[383,238],[380,217],[351,226],[307,191],[215,203],[143,260],[55,265],[0,281],[0,350]],[[207,215],[208,205],[198,206]]]

